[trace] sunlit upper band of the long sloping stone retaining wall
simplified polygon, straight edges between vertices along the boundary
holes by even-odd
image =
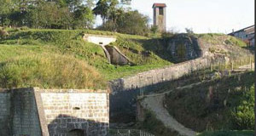
[[[207,58],[193,59],[179,63],[177,65],[167,66],[165,68],[145,71],[133,77],[119,78],[110,83],[112,94],[119,91],[132,90],[158,84],[160,82],[172,81],[183,77],[192,71],[205,69],[211,65],[211,60]]]

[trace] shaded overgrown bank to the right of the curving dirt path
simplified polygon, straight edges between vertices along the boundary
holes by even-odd
[[[165,103],[178,122],[197,132],[253,129],[253,83],[254,72],[246,72],[173,91]]]

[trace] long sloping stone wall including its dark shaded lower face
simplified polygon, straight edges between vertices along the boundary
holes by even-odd
[[[211,60],[207,58],[192,59],[166,68],[145,71],[134,77],[119,78],[109,82],[112,94],[110,95],[110,118],[113,122],[122,121],[119,116],[135,122],[137,94],[143,89],[145,92],[157,90],[162,82],[172,82],[192,71],[210,67]]]

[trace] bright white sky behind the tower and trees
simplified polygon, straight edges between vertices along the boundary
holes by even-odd
[[[131,8],[148,15],[152,25],[153,3],[166,3],[167,31],[227,34],[254,25],[254,0],[131,0]]]

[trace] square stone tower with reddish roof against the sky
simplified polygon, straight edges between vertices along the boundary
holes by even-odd
[[[166,31],[166,3],[153,4],[154,26],[158,26],[159,31]]]

